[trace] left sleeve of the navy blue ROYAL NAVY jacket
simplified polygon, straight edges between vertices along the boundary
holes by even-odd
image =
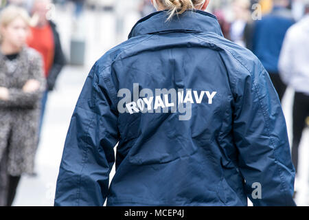
[[[93,65],[73,111],[56,185],[55,206],[103,206],[119,140],[115,96]],[[113,98],[111,98],[113,97]]]

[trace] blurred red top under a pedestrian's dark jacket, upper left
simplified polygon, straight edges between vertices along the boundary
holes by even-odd
[[[34,48],[43,56],[44,72],[47,78],[49,69],[53,65],[54,60],[54,35],[52,27],[47,24],[43,27],[31,27],[31,34],[27,39],[27,45]]]

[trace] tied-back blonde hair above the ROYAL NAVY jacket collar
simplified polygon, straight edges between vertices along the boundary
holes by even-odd
[[[153,0],[154,3],[156,0]],[[194,10],[196,6],[203,5],[206,0],[158,0],[164,8],[168,9],[169,17],[167,21],[172,19],[175,14],[183,14],[185,10]]]

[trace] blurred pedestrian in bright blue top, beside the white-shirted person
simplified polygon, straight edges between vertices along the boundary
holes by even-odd
[[[286,85],[279,77],[278,60],[288,28],[294,23],[288,0],[274,0],[273,10],[262,17],[262,20],[255,21],[253,31],[253,53],[258,56],[271,80],[279,99],[282,100]]]

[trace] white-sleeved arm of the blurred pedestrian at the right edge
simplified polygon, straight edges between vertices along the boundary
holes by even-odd
[[[296,45],[299,44],[293,41],[292,32],[288,30],[284,38],[284,43],[282,45],[278,63],[279,76],[282,78],[282,81],[286,83],[286,85],[290,83],[290,78],[295,71],[293,63],[295,63],[294,59],[297,58],[297,54],[295,54],[295,48],[298,47]]]

